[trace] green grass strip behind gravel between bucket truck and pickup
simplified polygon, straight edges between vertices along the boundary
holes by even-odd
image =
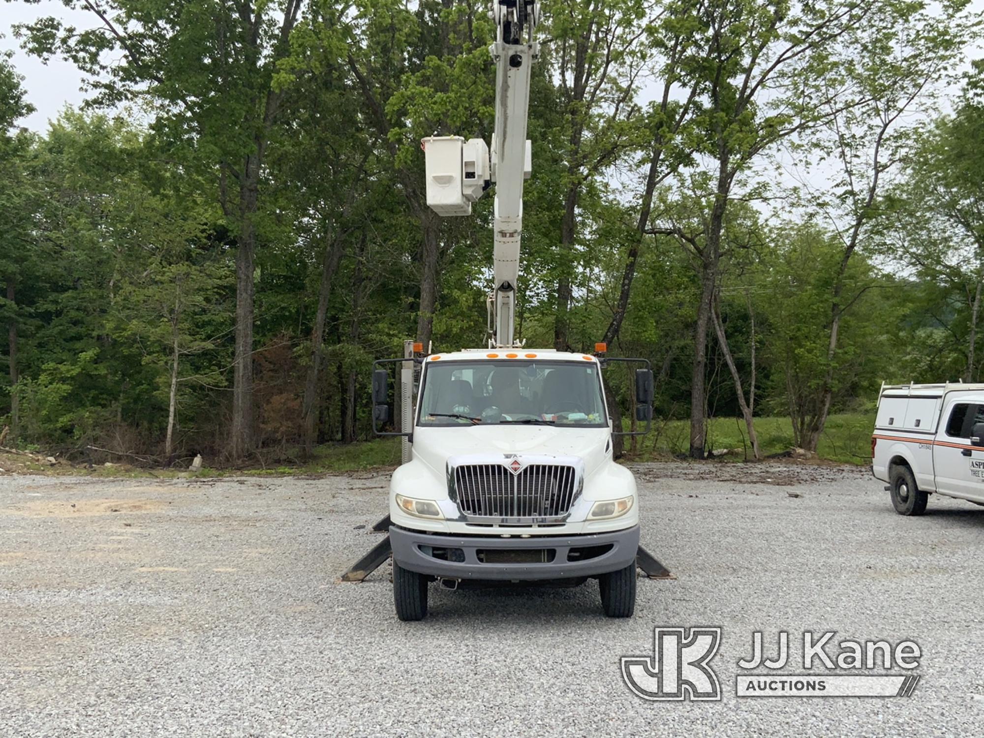
[[[852,412],[830,415],[824,435],[817,450],[821,459],[842,463],[865,464],[871,461],[871,433],[875,426],[874,412]],[[788,451],[793,446],[792,423],[787,417],[760,417],[755,419],[755,431],[763,456]],[[631,441],[626,439],[626,450]],[[638,453],[634,459],[646,461],[666,456],[686,454],[690,445],[690,421],[652,421],[652,432],[637,440]],[[719,417],[709,421],[708,449],[752,449],[748,444],[748,431],[741,418]],[[728,460],[744,460],[744,452],[722,457]]]

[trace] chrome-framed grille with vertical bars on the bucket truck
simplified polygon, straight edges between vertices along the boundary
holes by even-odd
[[[514,474],[498,463],[455,467],[458,507],[477,518],[559,518],[574,504],[575,467],[532,463]]]

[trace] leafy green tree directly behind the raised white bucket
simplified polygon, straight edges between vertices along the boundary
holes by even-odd
[[[440,291],[440,215],[427,207],[420,140],[431,135],[470,138],[491,130],[494,86],[488,44],[492,24],[485,8],[452,0],[359,0],[354,13],[326,28],[322,45],[335,49],[362,95],[359,124],[389,154],[394,178],[420,229],[416,338],[427,345]],[[444,253],[442,253],[444,252]]]

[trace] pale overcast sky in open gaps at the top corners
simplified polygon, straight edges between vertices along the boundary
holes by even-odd
[[[984,0],[972,0],[972,7],[978,13],[984,13]],[[0,2],[0,48],[14,51],[14,66],[25,76],[25,88],[28,99],[36,108],[22,125],[27,125],[35,131],[44,131],[47,121],[58,115],[65,105],[78,106],[84,99],[85,93],[80,90],[82,75],[74,65],[60,59],[52,59],[48,64],[42,64],[36,57],[29,56],[20,48],[20,43],[11,32],[11,27],[18,23],[31,22],[42,16],[56,16],[65,22],[79,28],[91,28],[92,14],[82,11],[69,11],[59,0],[40,0],[39,3]],[[984,56],[984,39],[968,49],[968,57]]]

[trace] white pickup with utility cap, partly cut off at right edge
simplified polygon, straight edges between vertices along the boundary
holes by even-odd
[[[984,384],[883,385],[871,457],[899,515],[933,492],[984,505]]]

